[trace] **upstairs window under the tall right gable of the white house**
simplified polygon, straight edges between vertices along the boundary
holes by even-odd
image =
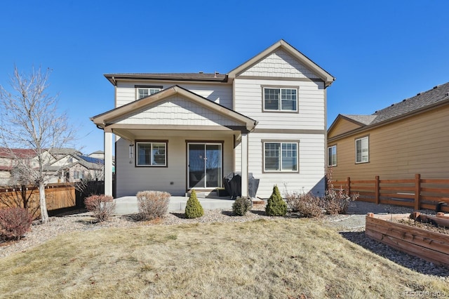
[[[265,111],[297,111],[296,88],[263,88]]]

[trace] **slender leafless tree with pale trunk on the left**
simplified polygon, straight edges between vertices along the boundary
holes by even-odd
[[[41,67],[25,74],[14,67],[10,91],[0,86],[0,146],[9,150],[20,181],[39,187],[43,223],[48,222],[45,186],[60,171],[50,168],[49,153],[75,140],[67,114],[58,111],[57,95],[47,92],[50,74],[50,69],[43,72]],[[14,148],[31,149],[34,157],[23,159]]]

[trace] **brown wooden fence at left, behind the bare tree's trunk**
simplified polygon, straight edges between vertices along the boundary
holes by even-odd
[[[45,187],[48,211],[58,208],[69,208],[76,204],[75,187],[67,183],[48,184]],[[23,207],[24,199],[28,199],[28,210],[34,218],[41,215],[39,208],[39,188],[34,186],[17,186],[0,189],[0,208],[11,206]]]

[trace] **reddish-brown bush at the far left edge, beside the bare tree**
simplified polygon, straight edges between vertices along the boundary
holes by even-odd
[[[6,208],[0,210],[0,238],[20,240],[31,230],[32,216],[25,208]]]

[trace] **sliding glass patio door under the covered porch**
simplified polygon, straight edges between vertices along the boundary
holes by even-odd
[[[187,178],[189,189],[221,187],[221,143],[189,142],[187,147]]]

